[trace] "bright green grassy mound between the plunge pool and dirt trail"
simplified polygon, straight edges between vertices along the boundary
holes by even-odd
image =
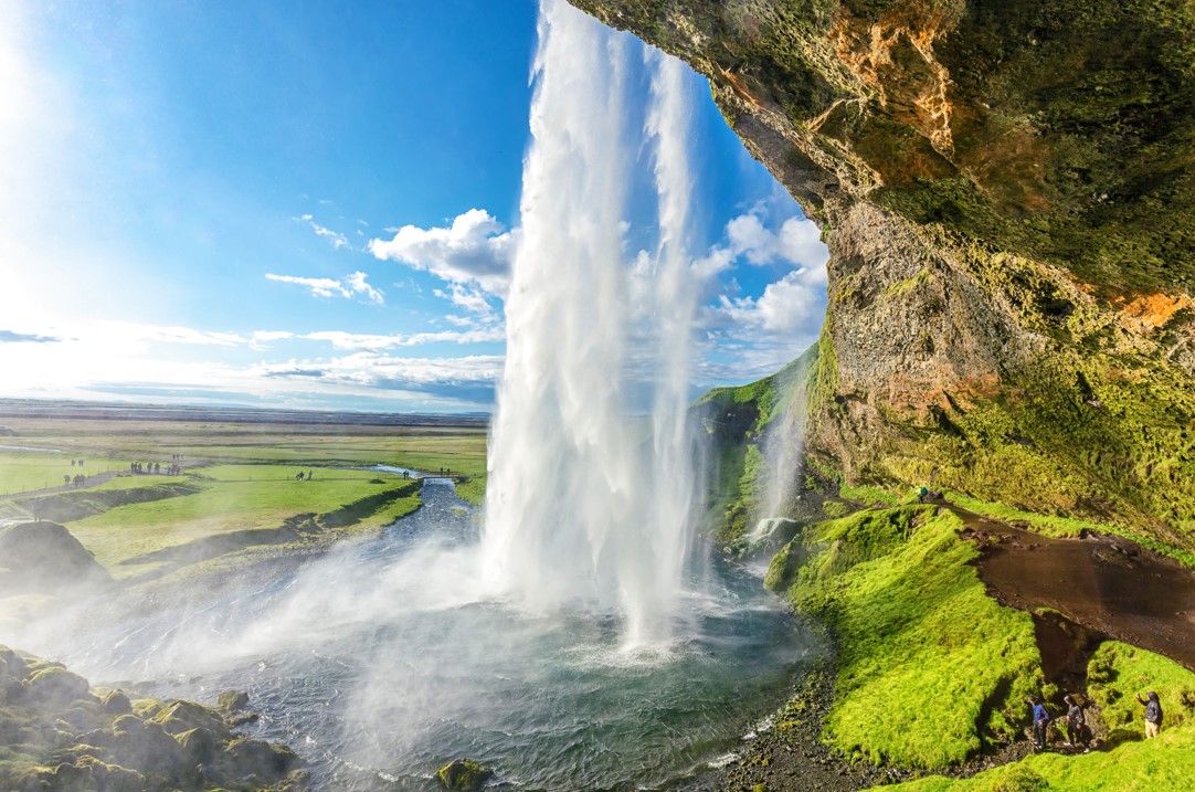
[[[825,738],[844,756],[936,769],[1017,733],[1042,682],[1032,621],[987,596],[961,524],[934,506],[864,510],[773,561],[768,582],[838,640]]]

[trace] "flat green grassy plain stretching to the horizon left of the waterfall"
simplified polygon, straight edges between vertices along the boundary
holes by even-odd
[[[461,496],[479,503],[486,434],[474,426],[312,425],[5,417],[0,520],[61,522],[117,578],[209,560],[255,544],[319,541],[378,529],[418,508],[418,483],[363,469],[390,465],[471,477]],[[130,475],[133,461],[179,475]],[[82,467],[72,459],[86,460]],[[304,478],[298,479],[299,473]],[[62,477],[108,473],[81,487]],[[308,475],[311,477],[308,479]],[[53,492],[37,492],[56,487]]]

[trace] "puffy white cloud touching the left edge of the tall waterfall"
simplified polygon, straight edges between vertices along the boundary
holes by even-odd
[[[427,270],[452,283],[477,284],[502,295],[510,276],[517,231],[505,231],[484,209],[458,215],[447,228],[403,226],[391,240],[374,239],[369,251],[380,259]]]

